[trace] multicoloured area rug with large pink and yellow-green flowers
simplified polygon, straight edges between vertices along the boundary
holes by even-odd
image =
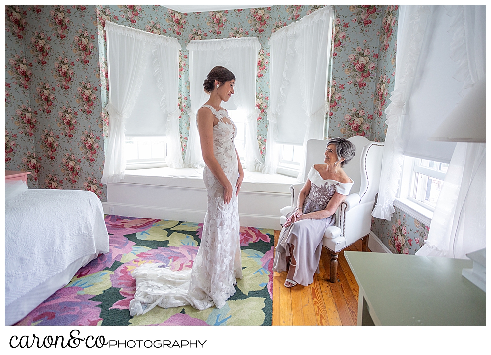
[[[273,229],[241,227],[243,278],[221,309],[155,307],[130,316],[135,293],[131,271],[161,262],[172,270],[192,267],[202,223],[105,216],[110,251],[81,268],[17,325],[271,325]]]

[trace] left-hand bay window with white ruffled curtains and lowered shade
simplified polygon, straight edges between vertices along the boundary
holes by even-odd
[[[127,146],[131,158],[140,158],[141,153],[141,156],[146,157],[143,161],[150,159],[154,164],[154,159],[163,160],[164,155],[168,157],[170,166],[182,167],[179,139],[168,139],[168,149],[165,149],[167,154],[162,150],[155,153],[155,157],[159,158],[154,158],[153,145],[158,146],[162,142],[149,143],[147,139],[144,143],[145,138],[132,139],[135,136],[179,137],[180,112],[177,99],[181,45],[176,38],[110,21],[106,22],[105,29],[109,83],[109,102],[105,109],[109,113],[110,124],[114,122],[115,125],[110,129],[107,140],[102,183],[120,181],[126,166],[132,165],[134,159],[126,156]],[[118,118],[121,114],[129,114],[123,124],[120,124],[121,118]],[[129,138],[128,144],[126,136]]]

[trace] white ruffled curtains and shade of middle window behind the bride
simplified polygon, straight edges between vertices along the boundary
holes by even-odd
[[[221,65],[231,70],[236,77],[236,89],[232,96],[239,109],[246,112],[246,162],[247,170],[261,171],[264,167],[257,143],[256,120],[256,69],[257,55],[261,45],[256,37],[226,38],[191,41],[189,50],[190,68],[190,131],[184,157],[184,166],[198,168],[205,166],[201,154],[196,112],[208,100],[203,82],[210,70]]]

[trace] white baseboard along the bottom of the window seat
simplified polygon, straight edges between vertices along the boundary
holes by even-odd
[[[110,214],[110,208],[112,207],[114,208],[113,214],[118,216],[180,220],[194,223],[203,223],[206,213],[206,211],[201,210],[138,206],[114,202],[103,202],[102,206],[105,214]],[[241,226],[244,227],[271,228],[275,230],[281,229],[279,215],[269,216],[239,213],[239,220]]]

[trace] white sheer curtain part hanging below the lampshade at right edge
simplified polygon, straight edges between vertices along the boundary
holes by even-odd
[[[422,256],[465,259],[486,247],[486,143],[457,143]]]

